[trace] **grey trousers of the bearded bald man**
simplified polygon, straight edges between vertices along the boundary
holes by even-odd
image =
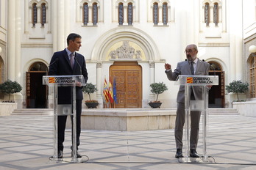
[[[196,149],[199,138],[199,122],[201,111],[191,111],[191,135],[190,149]],[[174,136],[176,148],[182,149],[183,127],[185,123],[185,103],[177,103],[177,116],[175,122]]]

